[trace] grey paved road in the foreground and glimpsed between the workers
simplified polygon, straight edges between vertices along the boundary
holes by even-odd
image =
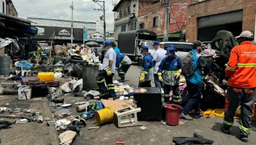
[[[127,81],[131,86],[138,85],[139,67],[131,66],[127,72]],[[223,134],[220,130],[221,121],[223,118],[200,118],[198,120],[186,121],[184,125],[176,127],[162,125],[160,121],[141,121],[147,130],[140,130],[138,127],[117,128],[113,123],[102,125],[99,130],[88,130],[82,128],[83,132],[76,138],[74,144],[115,144],[116,141],[124,141],[125,144],[131,145],[150,145],[150,144],[172,144],[172,137],[192,137],[193,132],[196,132],[206,139],[212,139],[214,144],[244,144],[237,137],[239,137],[239,130],[237,122],[235,121],[232,127],[232,134]],[[89,120],[87,127],[95,126],[94,120]],[[253,127],[256,127],[253,124]],[[252,132],[250,135],[250,142],[248,144],[255,144],[256,133]]]

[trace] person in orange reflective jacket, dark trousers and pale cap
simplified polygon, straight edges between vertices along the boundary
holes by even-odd
[[[252,44],[252,32],[243,31],[237,36],[240,45],[235,46],[230,53],[225,74],[228,77],[227,99],[230,102],[225,112],[221,130],[230,134],[234,123],[236,109],[241,103],[240,137],[248,142],[252,121],[252,107],[256,100],[256,46]]]

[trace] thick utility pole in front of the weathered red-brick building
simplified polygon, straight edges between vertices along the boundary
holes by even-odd
[[[164,41],[168,42],[170,2],[169,2],[169,0],[164,0],[163,4],[165,6],[165,13],[164,13]]]

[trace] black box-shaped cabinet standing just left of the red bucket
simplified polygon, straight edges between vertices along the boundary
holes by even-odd
[[[145,93],[140,92],[141,88],[134,90],[134,99],[137,107],[141,108],[138,113],[138,120],[160,121],[162,120],[162,95],[160,88],[147,88]]]

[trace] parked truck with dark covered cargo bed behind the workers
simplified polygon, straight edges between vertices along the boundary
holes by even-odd
[[[141,46],[148,46],[148,51],[154,53],[154,41],[157,35],[153,31],[125,31],[118,35],[118,48],[134,62],[141,62]]]

